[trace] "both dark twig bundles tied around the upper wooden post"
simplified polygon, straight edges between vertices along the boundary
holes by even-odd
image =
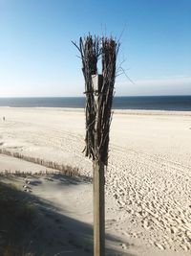
[[[74,43],[74,42],[73,42]],[[116,79],[116,62],[119,43],[114,38],[88,35],[74,43],[82,59],[86,94],[86,156],[108,163],[109,130]],[[97,75],[97,61],[102,58],[102,82],[96,92],[93,75]],[[97,93],[97,94],[96,94]]]

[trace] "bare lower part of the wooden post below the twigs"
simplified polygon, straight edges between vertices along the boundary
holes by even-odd
[[[105,196],[104,165],[93,163],[94,169],[94,256],[105,255]]]

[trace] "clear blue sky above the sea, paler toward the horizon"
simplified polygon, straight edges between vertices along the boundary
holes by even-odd
[[[71,40],[123,29],[117,95],[191,95],[190,0],[0,0],[0,97],[82,96]]]

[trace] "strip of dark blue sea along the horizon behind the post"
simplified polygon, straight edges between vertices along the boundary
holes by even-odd
[[[84,97],[0,98],[0,106],[84,108]],[[190,96],[115,97],[113,109],[191,111]]]

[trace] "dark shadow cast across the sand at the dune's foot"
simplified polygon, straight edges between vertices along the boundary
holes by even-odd
[[[9,178],[10,182],[13,179],[12,176],[6,178]],[[46,178],[56,178],[65,185],[78,185],[83,182],[78,178],[64,175],[52,175],[52,177]],[[40,182],[34,182],[33,185],[40,185]],[[19,241],[20,247],[25,253],[31,252],[35,256],[93,255],[92,225],[74,220],[65,214],[60,214],[59,209],[56,209],[50,201],[19,191],[10,185],[0,182],[0,189],[8,193],[16,202],[30,204],[34,209],[34,211],[32,210],[32,219],[28,221],[15,219],[15,228],[8,224],[11,220],[4,218],[2,222],[2,219],[0,219],[0,229],[6,233],[5,245],[18,244]],[[70,198],[68,199],[70,200]],[[1,236],[0,243],[2,244]],[[120,249],[119,244],[122,243],[126,244],[126,249]],[[127,241],[121,241],[117,237],[106,235],[106,255],[134,256],[128,253],[129,245]]]

